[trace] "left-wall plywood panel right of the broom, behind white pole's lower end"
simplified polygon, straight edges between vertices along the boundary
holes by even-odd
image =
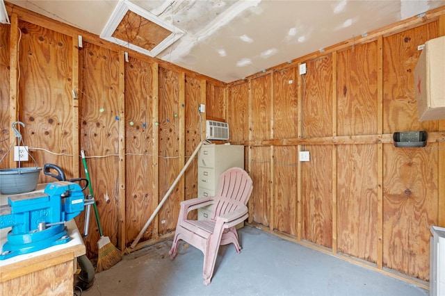
[[[157,206],[157,195],[152,192],[154,163],[152,130],[152,72],[151,65],[129,56],[125,63],[125,215],[126,242],[132,242]],[[143,240],[153,238],[153,224]]]

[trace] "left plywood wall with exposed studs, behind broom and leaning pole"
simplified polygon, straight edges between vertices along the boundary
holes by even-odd
[[[103,234],[122,252],[172,236],[179,202],[197,197],[195,160],[129,249],[202,140],[205,115],[226,120],[225,83],[133,51],[125,61],[127,49],[22,8],[17,12],[26,21],[13,13],[12,24],[0,26],[0,158],[15,140],[10,125],[20,120],[40,167],[54,163],[67,179],[84,177],[85,151]],[[207,100],[212,106],[200,116],[198,106]],[[1,163],[15,165],[10,157]],[[39,181],[55,179],[40,174]],[[83,232],[84,216],[76,223]],[[94,215],[89,230],[85,244],[94,257]]]

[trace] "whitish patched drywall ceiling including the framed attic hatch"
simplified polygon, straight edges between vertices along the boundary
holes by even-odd
[[[7,2],[227,83],[445,6],[414,0]]]

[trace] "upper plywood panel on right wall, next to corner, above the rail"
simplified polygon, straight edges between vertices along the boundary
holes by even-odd
[[[230,141],[249,140],[249,83],[232,85],[227,99]]]

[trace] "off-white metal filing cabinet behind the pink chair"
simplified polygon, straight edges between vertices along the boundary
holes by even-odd
[[[230,167],[244,169],[243,145],[202,145],[197,157],[197,196],[213,197],[218,193],[220,174]],[[198,220],[209,219],[211,206],[200,208]]]

